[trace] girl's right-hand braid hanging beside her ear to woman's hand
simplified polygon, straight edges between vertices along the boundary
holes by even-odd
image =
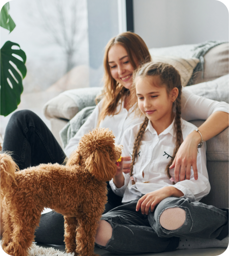
[[[172,162],[176,156],[176,153],[177,153],[177,151],[182,143],[182,140],[183,140],[180,116],[181,116],[181,91],[179,90],[179,94],[176,98],[176,116],[175,116],[175,122],[174,122],[174,128],[176,131],[176,147],[174,148],[173,156],[165,169],[169,179],[171,179],[171,175],[169,173],[169,166],[172,164]],[[175,185],[175,183],[172,182],[172,185]]]

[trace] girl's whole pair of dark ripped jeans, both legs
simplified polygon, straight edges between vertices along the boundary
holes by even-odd
[[[140,210],[136,212],[137,201],[116,207],[102,216],[101,220],[111,224],[113,233],[106,246],[96,244],[97,248],[123,255],[172,251],[178,246],[179,237],[221,240],[229,233],[228,209],[168,197],[145,215]],[[164,210],[173,207],[185,210],[186,219],[180,228],[167,230],[160,225],[159,218]]]

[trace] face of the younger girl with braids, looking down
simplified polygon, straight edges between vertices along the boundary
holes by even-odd
[[[173,88],[168,95],[165,86],[160,85],[161,80],[157,75],[136,77],[138,107],[152,125],[156,122],[167,124],[172,121],[173,102],[178,96],[177,88]]]

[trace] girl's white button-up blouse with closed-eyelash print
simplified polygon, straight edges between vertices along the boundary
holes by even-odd
[[[168,186],[177,188],[184,194],[184,198],[189,198],[192,202],[199,201],[209,193],[210,184],[206,168],[205,145],[203,145],[202,148],[199,148],[197,153],[197,181],[194,179],[192,167],[190,180],[177,182],[175,185],[172,185],[172,182],[169,180],[165,172],[165,168],[172,158],[176,143],[176,133],[174,132],[173,123],[174,121],[162,133],[157,135],[157,132],[152,127],[151,122],[149,122],[145,133],[143,134],[139,152],[133,167],[135,185],[132,185],[130,174],[123,174],[125,184],[119,189],[116,188],[113,180],[110,181],[111,189],[115,194],[123,197],[123,203],[138,199],[142,195]],[[139,128],[140,124],[137,124],[124,132],[121,143],[123,145],[122,155],[132,156],[133,146]],[[196,129],[195,125],[181,120],[183,138],[186,138],[186,136],[194,129]],[[175,181],[174,168],[170,169],[169,173]]]

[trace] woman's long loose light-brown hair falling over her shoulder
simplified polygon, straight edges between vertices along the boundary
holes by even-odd
[[[108,64],[108,52],[110,48],[115,45],[122,45],[129,57],[129,61],[134,69],[136,69],[140,64],[151,61],[151,56],[146,46],[145,42],[140,36],[132,32],[124,32],[116,37],[113,37],[105,48],[105,54],[103,59],[104,65],[104,92],[101,96],[104,96],[103,106],[99,114],[99,123],[107,115],[115,115],[120,112],[116,112],[118,102],[123,100],[123,96],[128,93],[129,90],[125,89],[122,84],[118,83],[112,76],[110,71],[110,66]],[[116,112],[116,113],[115,113]]]

